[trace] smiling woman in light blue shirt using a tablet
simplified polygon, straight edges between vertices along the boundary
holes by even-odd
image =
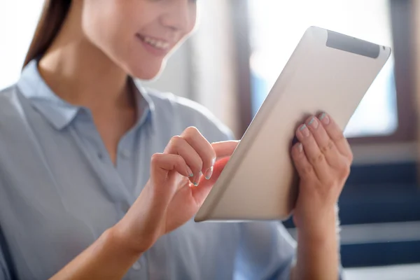
[[[193,222],[237,141],[131,77],[158,75],[196,8],[45,1],[22,76],[0,94],[0,279],[337,279],[351,151],[325,113],[291,151],[297,248],[279,223]]]

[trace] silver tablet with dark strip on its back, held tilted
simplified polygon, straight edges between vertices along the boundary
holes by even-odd
[[[202,221],[285,220],[298,178],[297,126],[321,111],[344,130],[391,48],[309,27],[195,216]]]

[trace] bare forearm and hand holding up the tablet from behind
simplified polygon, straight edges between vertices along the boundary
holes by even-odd
[[[339,126],[323,113],[296,132],[292,157],[300,176],[293,215],[298,231],[293,279],[339,279],[338,197],[353,155]]]

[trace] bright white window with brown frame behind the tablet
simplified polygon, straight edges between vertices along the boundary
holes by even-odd
[[[253,115],[311,25],[393,48],[386,0],[248,0]],[[398,127],[393,56],[352,116],[346,137],[385,136]]]

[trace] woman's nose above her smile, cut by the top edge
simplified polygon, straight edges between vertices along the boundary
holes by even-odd
[[[162,25],[174,31],[187,33],[195,24],[195,6],[190,0],[167,1],[167,9],[162,15]]]

